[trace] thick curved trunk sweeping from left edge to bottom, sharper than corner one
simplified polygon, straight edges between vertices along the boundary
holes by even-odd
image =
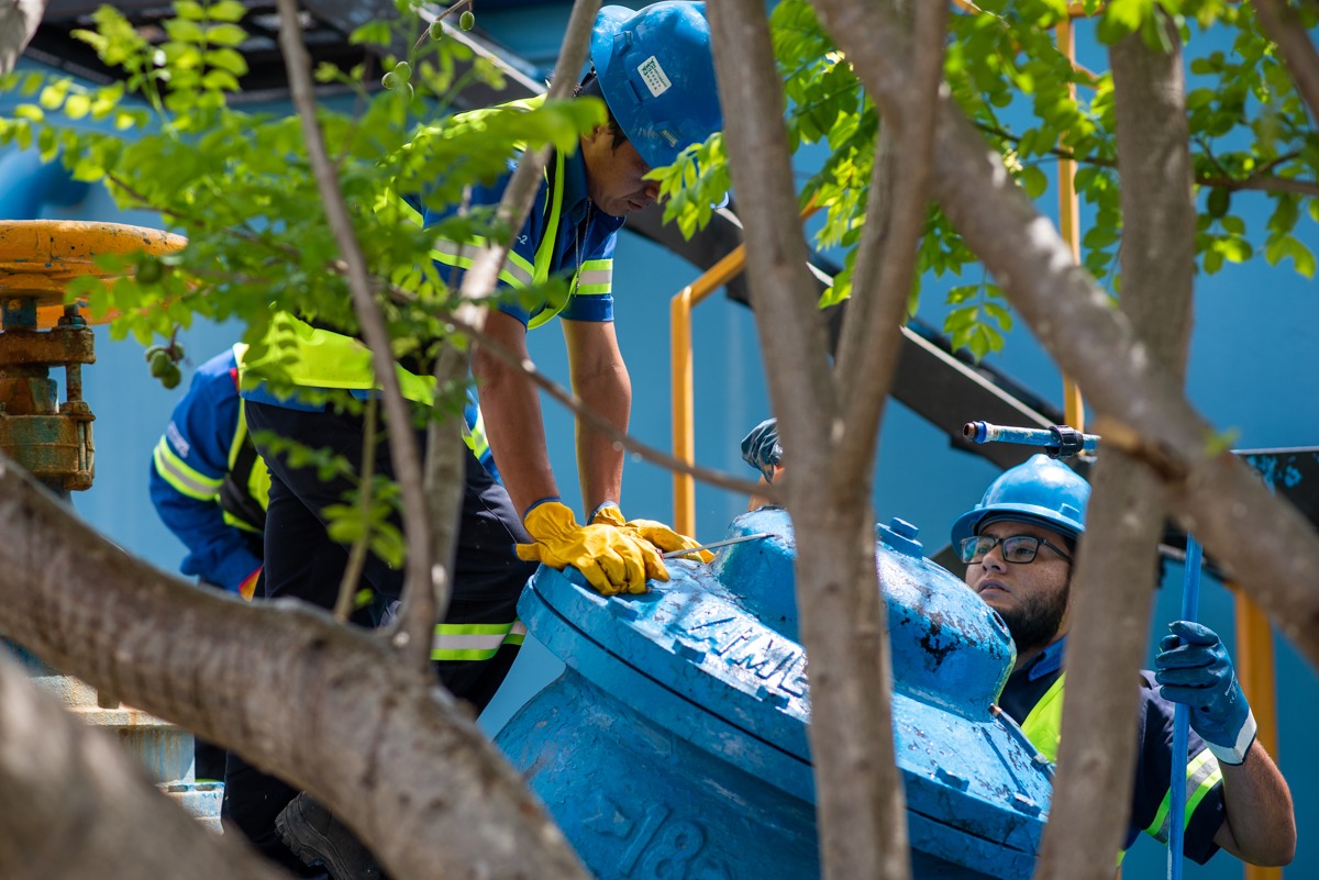
[[[393,876],[586,879],[471,714],[372,632],[166,576],[3,460],[0,531],[0,631],[311,792]]]

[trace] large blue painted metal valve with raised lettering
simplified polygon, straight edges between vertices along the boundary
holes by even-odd
[[[1014,651],[1001,619],[880,527],[896,752],[919,880],[1029,877],[1043,759],[991,711]],[[566,671],[496,736],[599,877],[819,875],[787,515],[761,510],[708,566],[669,563],[645,595],[603,598],[541,568],[518,605]]]

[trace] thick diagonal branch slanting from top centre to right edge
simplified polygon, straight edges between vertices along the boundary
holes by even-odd
[[[900,108],[911,83],[892,21],[873,4],[816,0],[816,8],[881,109]],[[1129,319],[1075,266],[1053,224],[947,97],[934,157],[935,199],[1054,361],[1076,377],[1105,449],[1142,458],[1170,483],[1178,522],[1319,665],[1314,527],[1221,451],[1178,378],[1149,357]]]

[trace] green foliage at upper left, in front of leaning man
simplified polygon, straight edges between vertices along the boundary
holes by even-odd
[[[243,4],[177,0],[174,12],[156,42],[109,7],[94,13],[94,29],[79,32],[104,62],[125,71],[121,84],[7,78],[0,88],[16,87],[32,100],[0,119],[0,144],[36,145],[42,159],[63,162],[79,180],[103,182],[121,206],[156,211],[169,231],[187,238],[185,249],[164,257],[103,257],[117,279],[83,278],[70,289],[70,299],[86,302],[94,315],[117,315],[115,337],[131,335],[144,346],[164,339],[171,348],[175,331],[197,317],[236,320],[247,328],[252,360],[268,365],[262,378],[276,393],[291,391],[280,337],[268,337],[274,312],[357,332],[303,132],[295,116],[244,111],[230,101],[247,72],[237,51],[248,38]],[[388,59],[393,87],[368,87],[379,72],[365,66],[322,66],[317,79],[347,87],[355,105],[351,112],[321,105],[317,124],[394,354],[429,370],[441,341],[454,336],[447,314],[456,296],[430,258],[437,233],[470,241],[475,250],[508,232],[493,211],[468,209],[467,188],[508,174],[525,148],[576,149],[579,134],[603,123],[604,112],[599,100],[580,99],[445,117],[451,95],[470,78],[497,86],[500,76],[458,41],[431,32],[417,40],[414,14],[402,22],[414,50],[406,59]],[[373,21],[352,40],[389,45],[392,37],[386,22]],[[425,211],[443,219],[422,229]],[[550,291],[510,295],[562,298],[565,289],[555,281]],[[168,360],[157,350],[148,358],[162,379],[175,378]],[[438,411],[459,412],[464,389],[443,391]],[[347,394],[330,402],[361,410]],[[322,461],[323,453],[311,449],[285,452],[327,474],[353,474],[360,464]],[[334,511],[331,532],[340,540],[367,537],[384,559],[400,560],[402,537],[386,522],[397,489],[373,481],[359,491],[369,499],[347,499]]]

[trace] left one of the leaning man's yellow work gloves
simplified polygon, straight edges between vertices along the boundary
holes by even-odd
[[[646,581],[667,581],[663,559],[648,541],[609,524],[579,526],[572,511],[545,501],[524,520],[534,544],[517,544],[517,557],[550,568],[582,572],[601,595],[645,593]]]

